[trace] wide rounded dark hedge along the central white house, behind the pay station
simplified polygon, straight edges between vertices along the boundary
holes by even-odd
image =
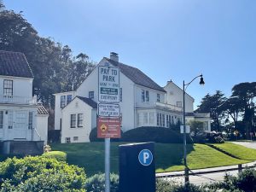
[[[138,127],[126,131],[121,138],[122,142],[156,142],[156,143],[183,143],[183,134],[165,127]],[[187,143],[192,143],[187,135]]]

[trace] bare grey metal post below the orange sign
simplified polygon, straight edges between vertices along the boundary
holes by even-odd
[[[105,192],[110,192],[110,138],[105,138]]]

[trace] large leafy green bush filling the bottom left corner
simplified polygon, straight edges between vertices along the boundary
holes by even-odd
[[[42,156],[0,162],[0,191],[85,191],[84,169]]]

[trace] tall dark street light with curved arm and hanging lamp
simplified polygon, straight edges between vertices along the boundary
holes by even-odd
[[[200,83],[201,85],[205,84],[204,79],[201,75],[196,76],[194,79],[192,79],[188,84],[185,84],[183,81],[183,151],[184,151],[184,175],[185,175],[185,183],[189,182],[189,169],[187,166],[187,138],[186,138],[186,119],[185,119],[185,91],[187,90],[189,84],[191,84],[195,79],[201,78]]]

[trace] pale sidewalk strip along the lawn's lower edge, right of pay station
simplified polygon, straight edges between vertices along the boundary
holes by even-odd
[[[242,164],[242,168],[245,167],[255,167],[256,161]],[[212,167],[212,168],[206,168],[206,169],[197,169],[197,170],[191,170],[189,171],[189,175],[195,175],[195,174],[206,174],[206,173],[212,173],[212,172],[228,172],[228,171],[234,171],[238,170],[238,165],[235,166],[219,166],[219,167]],[[179,172],[161,172],[156,173],[155,177],[180,177],[184,175],[184,171]]]

